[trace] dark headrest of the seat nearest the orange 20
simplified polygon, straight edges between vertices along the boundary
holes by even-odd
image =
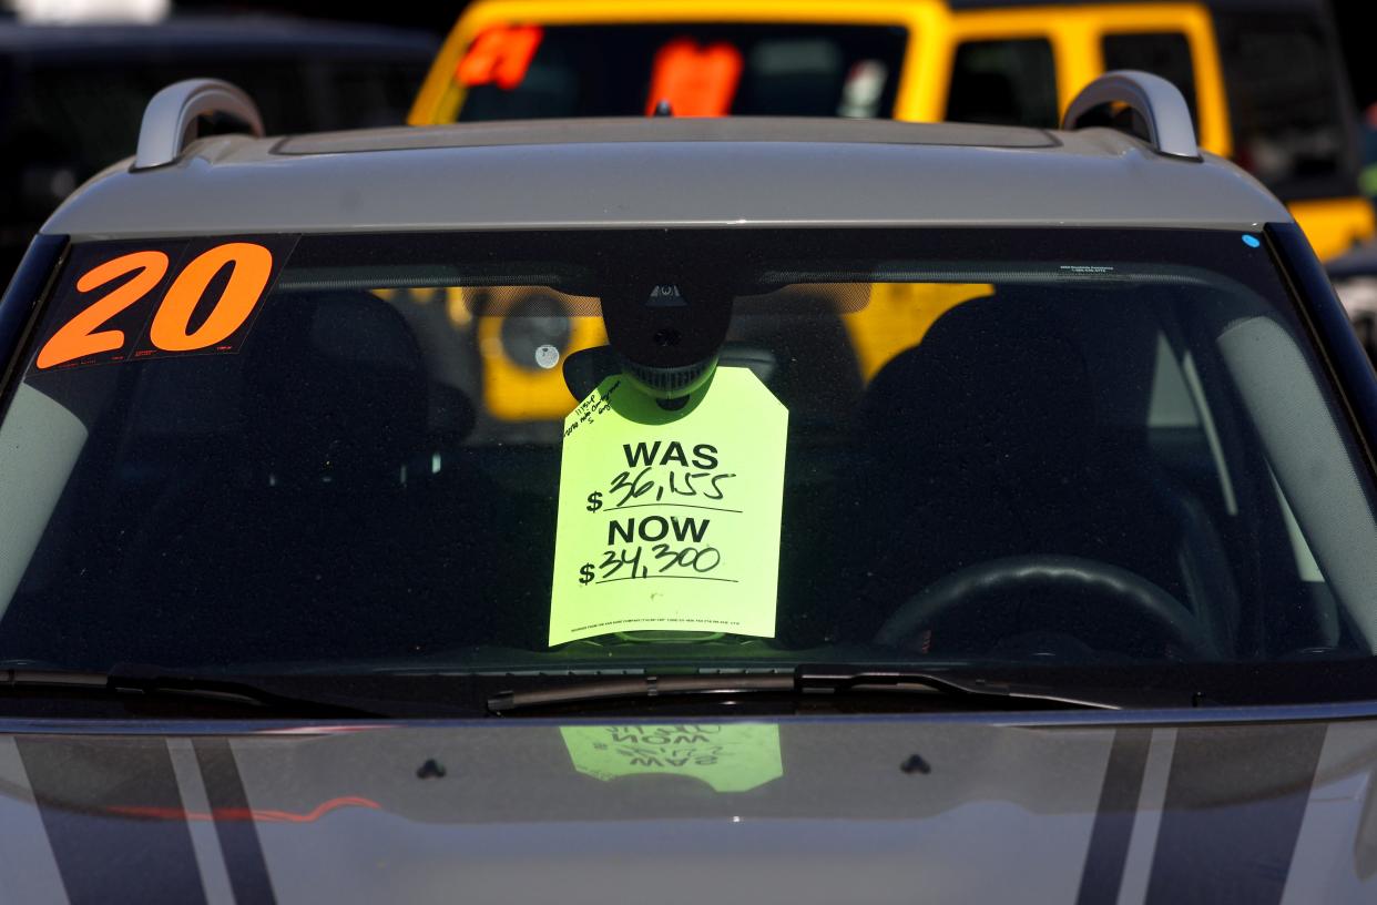
[[[274,479],[395,479],[421,448],[424,361],[406,320],[372,293],[274,293],[244,355],[248,455]]]

